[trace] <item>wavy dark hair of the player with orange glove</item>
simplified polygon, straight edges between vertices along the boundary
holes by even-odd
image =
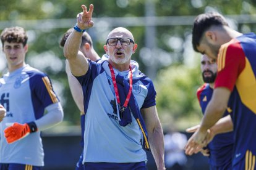
[[[6,41],[22,43],[23,46],[25,46],[28,41],[28,36],[24,28],[20,26],[5,28],[1,33],[2,47],[4,47],[4,42]]]

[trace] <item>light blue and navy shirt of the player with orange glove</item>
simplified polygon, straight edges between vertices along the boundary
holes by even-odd
[[[6,108],[6,118],[0,123],[0,163],[43,166],[43,145],[40,132],[34,132],[12,144],[7,144],[4,129],[9,124],[28,123],[43,116],[45,107],[59,102],[48,76],[25,65],[0,79],[0,103]]]

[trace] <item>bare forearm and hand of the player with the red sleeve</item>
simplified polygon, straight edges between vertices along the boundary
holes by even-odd
[[[192,155],[207,145],[207,131],[219,119],[223,117],[224,111],[228,105],[231,92],[225,87],[218,87],[213,91],[211,101],[208,103],[203,115],[200,128],[190,137],[186,145],[186,154]]]

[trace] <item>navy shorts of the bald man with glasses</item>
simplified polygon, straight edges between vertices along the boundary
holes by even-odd
[[[139,163],[84,163],[84,170],[105,170],[105,169],[122,169],[122,170],[147,170],[145,161]]]

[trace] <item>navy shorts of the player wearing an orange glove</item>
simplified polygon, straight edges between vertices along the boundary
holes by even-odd
[[[41,166],[17,163],[0,163],[0,170],[41,170]]]

